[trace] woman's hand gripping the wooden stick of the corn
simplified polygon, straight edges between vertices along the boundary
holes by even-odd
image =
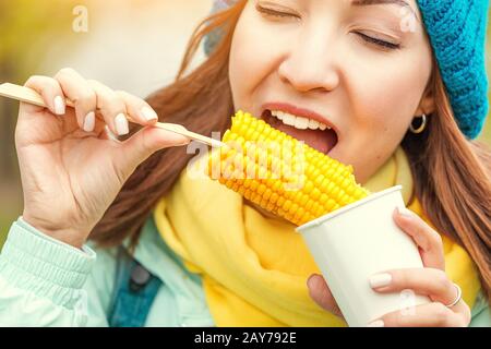
[[[115,92],[71,69],[25,84],[48,108],[22,103],[15,146],[24,193],[23,219],[45,234],[81,248],[134,169],[154,152],[188,144],[154,128],[157,115],[143,99]],[[75,100],[69,108],[65,100]],[[124,142],[127,117],[142,130]]]

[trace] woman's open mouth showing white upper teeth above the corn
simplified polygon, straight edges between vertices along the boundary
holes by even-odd
[[[268,109],[262,113],[261,118],[273,128],[304,142],[321,153],[330,154],[337,145],[336,131],[316,120]]]

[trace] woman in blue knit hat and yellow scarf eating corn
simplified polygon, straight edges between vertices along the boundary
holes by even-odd
[[[1,254],[0,323],[345,325],[295,227],[191,179],[189,140],[151,127],[158,115],[223,133],[242,109],[351,164],[372,191],[404,185],[410,210],[394,220],[424,267],[367,282],[432,302],[368,325],[490,326],[491,154],[471,141],[488,110],[487,11],[483,0],[238,1],[202,23],[176,83],[146,101],[71,69],[31,77],[49,108],[20,109],[25,207]],[[187,74],[209,34],[217,46]],[[106,125],[134,134],[115,142]]]

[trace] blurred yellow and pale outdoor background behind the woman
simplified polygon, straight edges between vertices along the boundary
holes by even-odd
[[[31,75],[71,67],[145,97],[173,80],[188,39],[212,2],[0,0],[0,83],[23,85]],[[23,205],[14,148],[17,108],[0,98],[0,246]],[[491,145],[491,120],[481,140]]]

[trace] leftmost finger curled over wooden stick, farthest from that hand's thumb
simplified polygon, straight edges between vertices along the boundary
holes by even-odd
[[[55,79],[35,75],[31,76],[24,86],[36,91],[43,97],[43,101],[49,111],[53,115],[62,116],[65,113],[64,94],[60,84]],[[40,111],[44,109],[43,107],[29,104],[23,104],[23,108],[26,111]]]

